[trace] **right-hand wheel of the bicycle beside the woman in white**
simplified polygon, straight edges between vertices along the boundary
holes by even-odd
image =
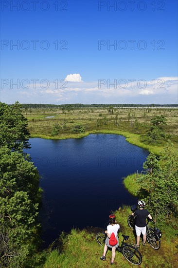
[[[132,264],[140,265],[142,263],[142,255],[138,249],[126,244],[123,248],[123,255],[125,259]]]

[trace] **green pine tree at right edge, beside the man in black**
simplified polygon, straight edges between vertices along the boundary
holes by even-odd
[[[178,152],[172,146],[165,147],[160,161],[150,153],[143,168],[145,174],[138,177],[139,198],[144,198],[155,220],[178,214]]]

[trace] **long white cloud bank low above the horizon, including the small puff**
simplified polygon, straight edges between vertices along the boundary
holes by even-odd
[[[80,77],[79,74],[73,75]],[[145,80],[145,83],[136,80],[132,84],[127,79],[126,87],[118,83],[118,80],[117,87],[108,84],[107,79],[101,87],[98,81],[81,83],[80,77],[80,82],[68,81],[65,86],[58,83],[57,89],[53,80],[49,81],[48,89],[42,88],[40,83],[36,83],[35,89],[32,87],[18,92],[4,89],[1,91],[3,101],[9,102],[10,96],[13,103],[17,99],[17,94],[21,103],[34,103],[34,99],[36,103],[176,103],[178,99],[178,77],[158,77]]]

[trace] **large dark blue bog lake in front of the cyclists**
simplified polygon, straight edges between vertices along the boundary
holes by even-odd
[[[40,175],[42,238],[47,246],[72,227],[103,227],[111,210],[137,202],[123,177],[142,171],[148,151],[116,134],[80,139],[30,139],[28,152]],[[121,223],[122,224],[122,223]]]

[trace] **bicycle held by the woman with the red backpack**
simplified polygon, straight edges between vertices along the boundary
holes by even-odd
[[[124,237],[121,246],[118,246],[116,250],[121,252],[125,259],[134,265],[140,265],[142,263],[142,255],[134,245],[128,244],[124,241],[128,240],[129,236],[122,234]],[[98,232],[96,234],[96,240],[100,246],[104,247],[107,234],[105,232]]]

